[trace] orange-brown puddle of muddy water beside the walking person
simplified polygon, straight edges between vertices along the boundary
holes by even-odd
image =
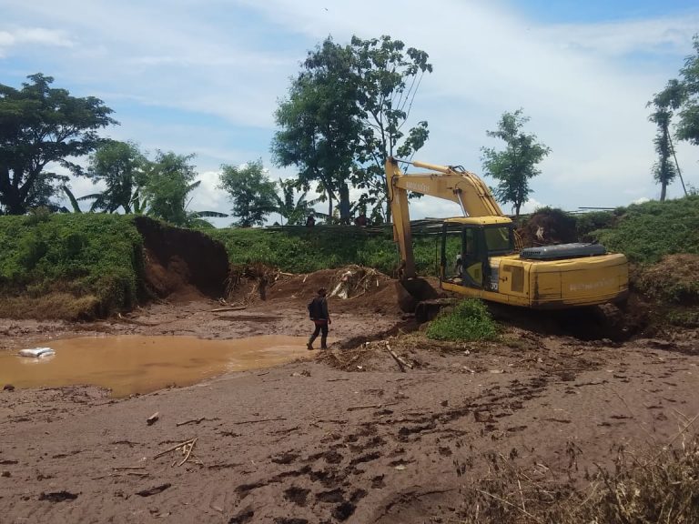
[[[307,338],[262,336],[232,340],[195,337],[83,337],[37,344],[56,351],[52,357],[0,353],[0,385],[15,388],[92,384],[113,397],[147,393],[167,386],[187,386],[230,371],[269,368],[315,354]]]

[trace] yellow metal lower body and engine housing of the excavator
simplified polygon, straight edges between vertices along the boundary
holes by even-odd
[[[553,309],[603,304],[628,294],[628,265],[618,254],[564,260],[492,257],[491,267],[499,267],[497,290],[446,280],[441,287],[466,297]]]

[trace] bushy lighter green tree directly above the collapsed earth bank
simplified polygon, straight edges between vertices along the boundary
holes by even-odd
[[[149,204],[148,215],[176,226],[187,225],[187,197],[200,184],[194,182],[197,172],[192,158],[194,155],[157,152],[155,161],[148,166],[142,191]]]

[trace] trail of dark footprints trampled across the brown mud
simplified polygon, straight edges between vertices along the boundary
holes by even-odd
[[[384,499],[382,493],[372,492],[385,489],[387,475],[410,466],[418,467],[424,461],[420,451],[425,450],[448,465],[453,477],[461,476],[464,463],[453,456],[461,455],[461,448],[467,448],[469,440],[496,431],[512,412],[539,398],[547,383],[541,377],[523,381],[515,378],[506,385],[493,385],[464,398],[458,406],[447,404],[432,413],[410,410],[399,413],[399,409],[380,408],[370,412],[348,433],[342,431],[340,424],[339,429],[327,431],[320,438],[315,452],[288,448],[270,455],[268,462],[279,468],[271,475],[248,479],[234,488],[238,512],[232,514],[231,521],[245,521],[250,510],[268,508],[266,501],[275,493],[283,493],[282,501],[279,496],[275,499],[275,513],[279,517],[265,513],[266,518],[294,515],[299,522],[350,519],[363,499]],[[526,427],[505,428],[501,434],[505,436],[523,428]],[[406,497],[404,493],[396,496]],[[396,502],[384,503],[391,506]]]

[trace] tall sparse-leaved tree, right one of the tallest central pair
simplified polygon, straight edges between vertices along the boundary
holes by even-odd
[[[376,207],[386,202],[384,175],[387,156],[410,158],[424,146],[430,132],[426,121],[404,131],[424,74],[432,72],[429,55],[414,47],[405,48],[389,35],[362,40],[352,36],[354,75],[359,79],[362,123],[360,166],[354,183],[368,190],[365,200]],[[390,206],[386,207],[390,221]]]

